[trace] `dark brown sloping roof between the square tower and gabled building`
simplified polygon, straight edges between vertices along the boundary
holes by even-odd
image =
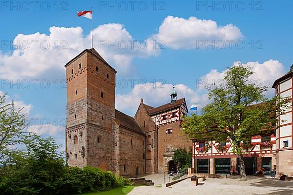
[[[133,117],[130,117],[120,112],[119,110],[115,110],[115,119],[118,122],[119,126],[126,128],[132,132],[145,135],[143,130],[140,128],[140,126]]]

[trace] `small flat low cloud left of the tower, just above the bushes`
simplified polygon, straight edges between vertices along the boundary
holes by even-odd
[[[52,124],[31,125],[27,128],[27,132],[31,132],[39,136],[58,136],[64,133],[64,128]]]

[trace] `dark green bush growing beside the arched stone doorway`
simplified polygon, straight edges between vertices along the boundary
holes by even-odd
[[[192,148],[189,147],[189,152],[185,148],[175,150],[173,160],[177,167],[186,168],[187,171],[188,167],[192,166]],[[181,170],[181,172],[183,173],[184,170]]]

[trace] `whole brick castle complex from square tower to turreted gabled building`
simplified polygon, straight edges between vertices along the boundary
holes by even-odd
[[[192,142],[182,136],[185,98],[159,107],[141,103],[134,117],[115,109],[116,70],[94,49],[65,65],[67,83],[65,151],[69,166],[93,166],[125,177],[176,169],[177,148]]]

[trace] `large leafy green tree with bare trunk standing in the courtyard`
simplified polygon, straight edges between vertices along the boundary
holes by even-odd
[[[185,117],[184,133],[198,141],[216,140],[225,142],[230,138],[233,152],[240,161],[240,174],[246,179],[241,144],[250,143],[251,137],[259,135],[261,129],[273,131],[275,113],[288,99],[275,105],[275,98],[267,99],[263,92],[267,86],[251,82],[251,68],[240,64],[228,69],[224,84],[208,88],[211,103],[206,105],[200,116]],[[265,102],[265,103],[259,103]],[[277,113],[278,114],[278,113]]]

